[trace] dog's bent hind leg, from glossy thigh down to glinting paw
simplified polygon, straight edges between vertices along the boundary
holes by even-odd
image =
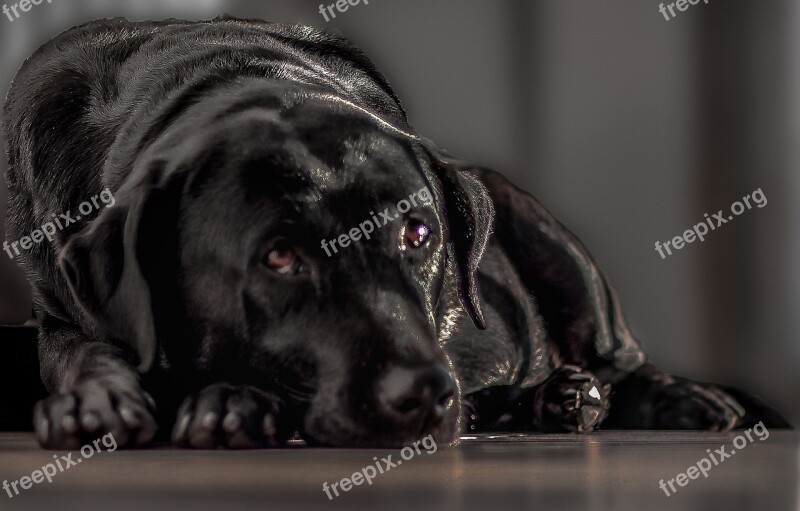
[[[506,287],[508,275],[518,275],[528,295],[525,301],[535,304],[544,332],[541,336],[545,340],[535,340],[528,349],[532,356],[531,363],[522,366],[523,388],[507,389],[506,406],[513,410],[513,428],[592,431],[608,413],[608,384],[619,374],[639,367],[644,354],[622,317],[613,290],[574,235],[536,199],[499,174],[488,169],[478,169],[476,173],[495,205],[493,247],[509,261],[505,268],[482,262],[481,270],[498,275],[495,280]],[[487,253],[492,252],[491,248]],[[484,284],[482,280],[481,290],[486,298]],[[502,308],[499,304],[498,309]],[[515,313],[508,321],[512,328],[518,317],[519,313]],[[536,330],[531,326],[533,321],[527,324],[528,332]],[[525,334],[519,328],[517,332]],[[543,343],[547,346],[544,350],[540,349]],[[546,358],[552,360],[547,367],[541,363]],[[556,367],[552,373],[546,374],[553,365]],[[508,414],[493,417],[493,427],[501,425],[501,417]],[[481,424],[481,429],[484,426]]]

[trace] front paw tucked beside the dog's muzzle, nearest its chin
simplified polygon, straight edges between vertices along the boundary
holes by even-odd
[[[294,433],[282,409],[280,399],[255,387],[211,385],[183,402],[172,441],[194,449],[276,447]]]

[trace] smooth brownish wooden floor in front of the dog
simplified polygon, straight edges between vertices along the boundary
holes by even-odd
[[[758,510],[800,509],[800,434],[771,432],[743,449],[735,435],[605,432],[590,436],[484,436],[440,447],[371,486],[328,499],[322,483],[351,476],[373,457],[398,452],[291,448],[94,455],[20,495],[0,493],[0,510]],[[677,486],[674,478],[726,445],[735,455]],[[59,455],[64,453],[59,453]],[[0,480],[17,480],[53,461],[28,434],[0,434]],[[73,459],[80,455],[73,455]],[[12,490],[13,493],[13,490]]]

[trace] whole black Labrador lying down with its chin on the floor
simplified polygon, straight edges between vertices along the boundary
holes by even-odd
[[[96,21],[26,62],[5,131],[43,446],[786,425],[647,365],[578,240],[415,134],[339,37]]]

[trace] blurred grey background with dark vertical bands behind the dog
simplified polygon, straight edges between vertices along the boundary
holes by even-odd
[[[656,364],[745,386],[800,424],[800,2],[711,0],[670,21],[653,0],[362,0],[331,22],[319,7],[53,0],[0,17],[0,87],[39,45],[98,17],[228,12],[338,31],[420,132],[502,171],[584,241]],[[656,253],[758,188],[763,209]],[[0,324],[29,311],[0,257]]]

